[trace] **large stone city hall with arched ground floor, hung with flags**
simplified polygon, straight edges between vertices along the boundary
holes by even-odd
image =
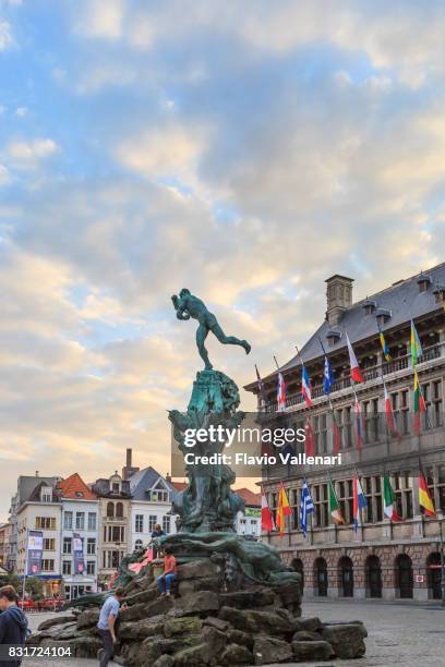
[[[277,410],[277,372],[245,389],[258,397],[262,421],[268,426],[303,427],[310,420],[316,454],[332,453],[333,414],[341,435],[341,465],[281,465],[265,468],[263,485],[276,512],[282,481],[291,514],[284,537],[263,535],[282,558],[303,575],[306,596],[374,597],[384,599],[441,597],[441,533],[445,513],[445,264],[353,303],[351,278],[333,276],[327,283],[326,319],[301,350],[312,381],[312,407],[301,395],[301,360],[296,355],[281,367],[287,385],[284,410]],[[411,318],[423,349],[416,366],[426,412],[420,434],[413,422],[413,368],[410,354]],[[388,345],[386,361],[380,329]],[[364,381],[352,386],[346,333],[354,349]],[[335,383],[324,393],[323,348]],[[388,433],[384,411],[384,383],[401,437]],[[354,405],[362,413],[361,447],[354,437]],[[329,402],[330,399],[330,402]],[[434,500],[436,519],[419,507],[418,475],[422,465]],[[354,469],[368,506],[353,530]],[[329,472],[345,524],[329,514]],[[383,511],[383,474],[389,477],[402,521],[392,522]],[[315,511],[304,538],[299,519],[300,493],[308,480]]]

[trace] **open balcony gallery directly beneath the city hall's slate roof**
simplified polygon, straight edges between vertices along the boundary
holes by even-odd
[[[360,363],[360,361],[359,361]],[[430,348],[425,348],[423,350],[423,355],[420,357],[420,361],[417,365],[417,371],[419,374],[422,371],[430,368],[431,366],[436,365],[437,363],[445,364],[445,341],[438,342]],[[356,385],[357,392],[363,388],[368,388],[370,386],[382,385],[382,375],[389,376],[388,381],[393,383],[395,379],[402,378],[405,376],[412,375],[411,367],[411,355],[405,354],[402,356],[398,356],[392,362],[384,362],[383,364],[378,364],[375,366],[371,366],[370,368],[362,368],[364,383],[360,385]],[[330,399],[340,398],[341,393],[345,396],[350,392],[352,388],[352,380],[350,374],[346,377],[340,377],[336,383],[334,383],[330,387]],[[317,400],[321,399],[321,400]],[[312,387],[312,400],[314,402],[314,407],[317,404],[323,404],[328,401],[328,398],[324,393],[323,384],[314,385]],[[301,391],[289,396],[286,400],[286,410],[293,409],[305,409],[305,403]],[[260,411],[264,411],[266,413],[274,413],[278,410],[278,403],[276,400],[268,401],[260,409]],[[282,414],[282,412],[280,413]]]

